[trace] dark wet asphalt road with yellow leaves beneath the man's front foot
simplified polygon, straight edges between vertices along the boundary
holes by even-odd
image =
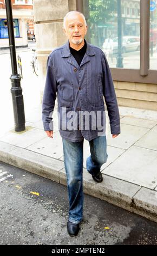
[[[67,187],[0,162],[1,245],[157,245],[157,223],[84,195],[84,219],[67,234]]]

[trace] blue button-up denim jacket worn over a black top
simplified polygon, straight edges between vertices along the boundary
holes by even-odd
[[[67,115],[73,111],[77,113],[78,124],[80,124],[78,112],[94,112],[97,118],[97,111],[101,111],[103,112],[101,124],[106,129],[103,96],[107,106],[111,133],[120,133],[120,116],[114,84],[106,57],[100,48],[87,42],[87,51],[80,66],[70,53],[69,41],[49,55],[42,102],[42,120],[45,131],[53,130],[52,114],[56,96],[60,114],[58,117],[60,135],[64,139],[78,142],[83,137],[90,141],[100,136],[97,125],[95,129],[92,129],[91,119],[89,129],[84,126],[79,129],[78,125],[77,129],[70,130],[63,129],[63,126],[70,119]],[[64,120],[62,120],[63,109],[66,109],[64,113],[67,114]]]

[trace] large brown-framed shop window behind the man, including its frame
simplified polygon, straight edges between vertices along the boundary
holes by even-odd
[[[106,54],[113,79],[156,84],[157,0],[76,2],[79,3],[77,10],[83,11],[87,20],[86,39]]]

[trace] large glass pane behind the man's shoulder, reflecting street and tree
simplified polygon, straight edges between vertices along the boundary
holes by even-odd
[[[83,1],[87,41],[99,46],[111,68],[140,68],[140,0]]]

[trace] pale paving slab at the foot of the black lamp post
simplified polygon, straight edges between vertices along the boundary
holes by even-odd
[[[5,136],[1,137],[0,140],[17,147],[26,148],[46,136],[44,131],[32,128],[31,130],[23,131],[23,133],[6,132]]]

